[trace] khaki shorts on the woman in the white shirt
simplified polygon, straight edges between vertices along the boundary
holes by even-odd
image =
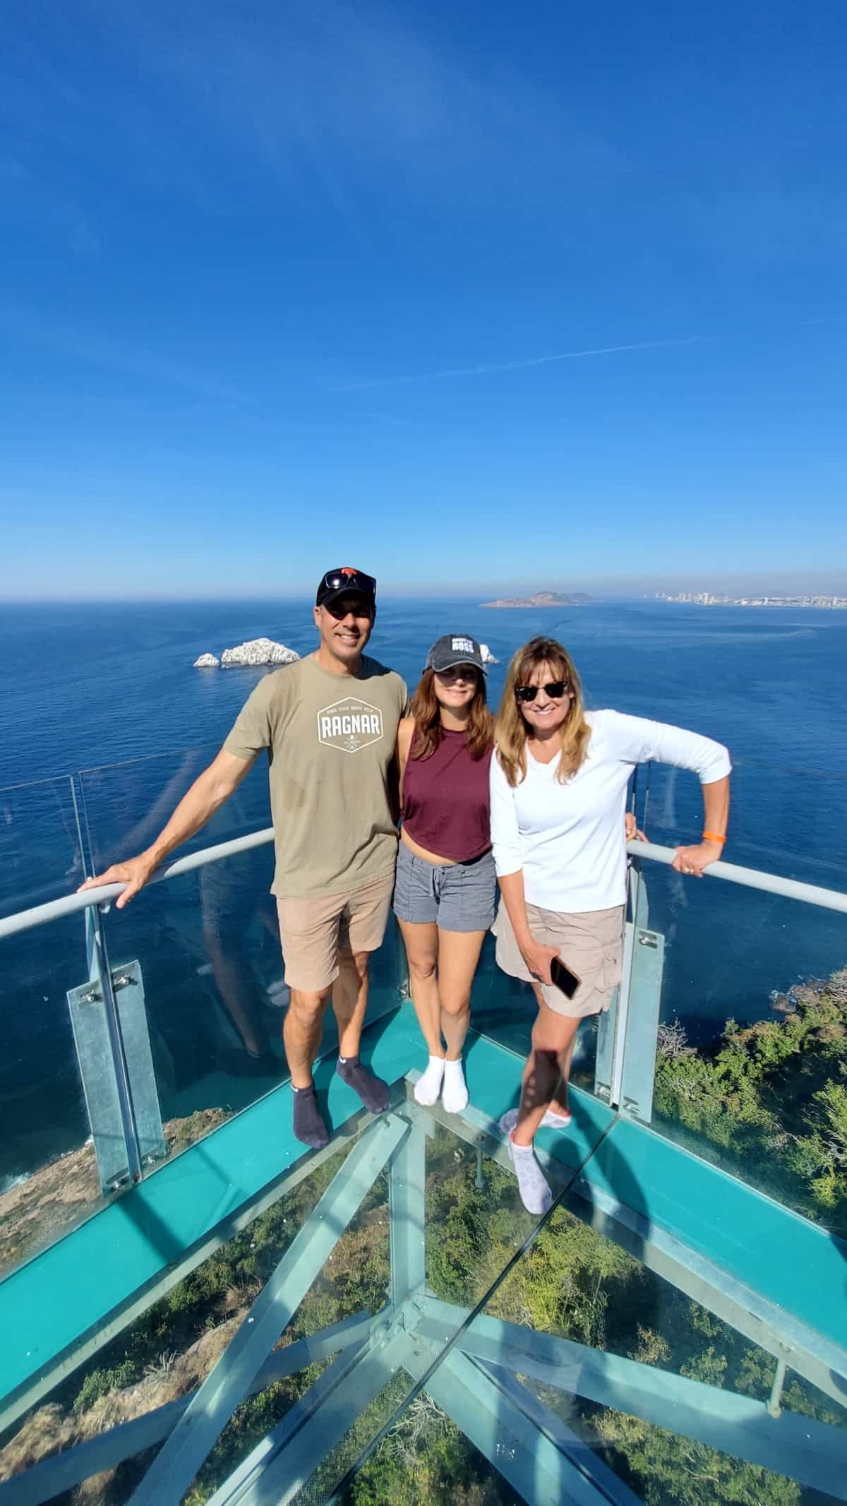
[[[612,989],[621,980],[623,905],[612,905],[611,910],[584,910],[570,916],[527,905],[527,920],[536,941],[558,947],[561,961],[581,979],[573,998],[567,998],[554,983],[542,983],[548,1008],[570,1020],[597,1015],[602,1009],[608,1009]],[[521,956],[502,902],[492,931],[496,937],[496,965],[510,977],[534,983],[536,979]]]

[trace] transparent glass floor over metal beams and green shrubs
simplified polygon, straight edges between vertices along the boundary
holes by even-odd
[[[778,1331],[593,1217],[573,1184],[533,1218],[504,1146],[400,1102],[71,1369],[0,1480],[30,1506],[847,1498],[838,1376],[784,1372]]]

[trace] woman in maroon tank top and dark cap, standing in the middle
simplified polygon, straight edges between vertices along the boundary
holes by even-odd
[[[474,639],[447,634],[433,643],[411,712],[397,732],[402,828],[394,914],[429,1048],[415,1098],[432,1105],[441,1096],[448,1113],[460,1113],[468,1102],[462,1047],[471,983],[496,895],[489,822],[493,718]]]

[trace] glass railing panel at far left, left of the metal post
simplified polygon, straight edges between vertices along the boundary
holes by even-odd
[[[83,876],[71,782],[0,791],[0,919],[72,893]],[[84,1003],[90,976],[81,913],[0,938],[0,1274],[99,1206],[92,1126],[110,1182],[128,1172],[110,1069],[96,1081],[104,1006]]]

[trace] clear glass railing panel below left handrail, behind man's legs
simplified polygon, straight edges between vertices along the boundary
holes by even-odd
[[[140,974],[168,1154],[289,1078],[290,991],[272,875],[274,849],[265,843],[150,884],[105,919],[113,971],[134,964]],[[400,1001],[399,968],[390,925],[370,962],[366,1024]],[[337,1042],[328,1006],[319,1057]]]

